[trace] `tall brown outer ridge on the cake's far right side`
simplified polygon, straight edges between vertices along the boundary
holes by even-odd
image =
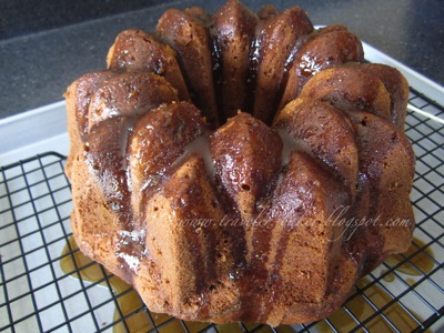
[[[360,274],[366,274],[389,253],[404,252],[410,245],[405,240],[414,228],[410,192],[415,158],[405,134],[393,124],[366,112],[353,112],[350,118],[356,131],[360,173],[365,175],[353,213],[372,223],[360,226],[345,246],[360,263]]]

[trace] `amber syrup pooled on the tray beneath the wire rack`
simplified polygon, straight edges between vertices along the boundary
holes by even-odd
[[[420,240],[414,240],[415,244],[420,248],[423,248],[425,244]],[[123,333],[123,332],[147,332],[152,330],[154,326],[152,325],[152,321],[157,326],[161,326],[157,329],[160,333],[173,333],[173,332],[184,332],[184,329],[179,320],[168,315],[160,313],[152,313],[151,319],[148,313],[144,311],[144,305],[139,297],[138,293],[131,289],[129,284],[123,282],[117,276],[110,278],[112,274],[107,270],[102,269],[98,263],[85,256],[80,251],[75,251],[78,249],[75,241],[72,236],[69,239],[69,245],[65,244],[62,251],[62,260],[60,261],[60,265],[62,271],[65,274],[70,274],[72,278],[82,279],[83,281],[88,281],[91,283],[99,283],[100,285],[108,286],[103,272],[107,275],[107,279],[111,285],[111,289],[117,297],[118,309],[114,311],[113,321],[117,324],[113,326],[114,333]],[[75,252],[73,252],[75,251]],[[417,248],[411,245],[411,248],[405,253],[405,256],[410,256],[417,252]],[[72,253],[73,252],[73,253]],[[431,258],[434,258],[433,252],[430,249],[425,249],[424,251],[417,253],[415,256],[411,259],[410,262],[402,264],[396,270],[404,274],[411,276],[422,275],[415,266],[417,266],[422,272],[427,273],[433,269],[433,261]],[[392,255],[385,262],[390,266],[397,265],[404,259],[401,255]],[[382,274],[384,271],[382,272]],[[385,271],[386,273],[386,271]],[[396,280],[393,273],[389,273],[384,275],[384,281],[393,282]],[[413,279],[406,280],[408,283],[414,283]],[[356,285],[359,287],[365,287],[371,281],[367,278],[361,279]],[[364,291],[366,297],[374,303],[379,309],[386,305],[392,301],[392,296],[390,296],[383,289],[377,286],[376,284],[371,285]],[[364,300],[361,295],[355,296],[351,301],[346,303],[346,307],[350,312],[353,313],[359,320],[363,321],[369,316],[374,315],[375,310],[370,305],[370,303]],[[420,316],[415,314],[413,311],[410,311],[417,319]],[[384,315],[401,332],[411,331],[417,326],[417,323],[411,317],[411,314],[406,312],[400,304],[393,303],[389,309],[384,311]],[[127,317],[128,316],[128,317]],[[124,323],[121,319],[124,317]],[[329,316],[329,320],[336,326],[341,327],[341,331],[350,331],[356,326],[356,322],[353,317],[343,309],[340,307],[333,314]],[[164,323],[164,325],[162,325]],[[103,323],[107,325],[108,323]],[[190,332],[199,332],[204,327],[208,327],[208,323],[199,323],[199,322],[185,322],[186,327]],[[253,323],[244,323],[244,325],[252,330],[258,326],[258,324]],[[231,333],[231,332],[243,332],[243,330],[238,324],[225,324],[225,325],[215,325],[218,332],[221,333]],[[320,321],[316,325],[321,332],[331,332],[331,327],[324,321]],[[392,327],[389,323],[381,317],[381,315],[375,316],[371,322],[369,322],[365,327],[372,332],[386,332],[391,331]],[[282,325],[278,329],[279,332],[294,332],[291,326]]]

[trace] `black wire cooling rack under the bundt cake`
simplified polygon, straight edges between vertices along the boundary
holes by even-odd
[[[411,91],[410,103],[444,110]],[[407,253],[361,279],[327,319],[270,327],[191,323],[151,313],[135,292],[89,261],[71,238],[64,157],[46,153],[0,168],[0,331],[6,332],[423,332],[444,329],[444,127],[408,112],[417,158],[416,216]]]

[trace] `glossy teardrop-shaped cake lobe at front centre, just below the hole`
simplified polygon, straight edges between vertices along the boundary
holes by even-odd
[[[282,141],[278,132],[240,112],[211,135],[210,149],[220,192],[242,220],[252,220],[256,200],[265,194],[266,184],[281,168]],[[268,163],[255,168],[261,161]]]

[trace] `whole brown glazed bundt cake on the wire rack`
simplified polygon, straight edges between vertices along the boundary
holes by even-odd
[[[65,93],[72,231],[147,306],[304,323],[411,242],[408,87],[299,7],[171,9]]]

